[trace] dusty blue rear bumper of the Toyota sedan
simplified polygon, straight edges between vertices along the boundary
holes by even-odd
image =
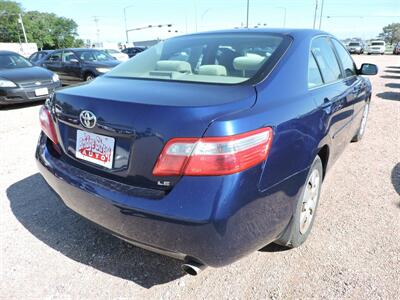
[[[38,167],[68,207],[142,248],[213,267],[275,240],[290,221],[307,173],[262,193],[254,169],[183,177],[161,199],[149,199],[114,190],[108,179],[64,163],[51,154],[46,140],[42,135],[37,147]]]

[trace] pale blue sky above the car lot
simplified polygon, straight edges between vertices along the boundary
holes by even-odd
[[[312,28],[318,1],[250,0],[249,27]],[[17,0],[25,10],[55,13],[74,19],[82,39],[125,42],[128,29],[172,24],[129,33],[129,41],[167,38],[196,31],[246,24],[247,0]],[[400,0],[324,0],[321,29],[344,39],[376,37],[382,27],[400,22]],[[286,20],[285,20],[286,12]],[[97,22],[96,22],[97,20]],[[172,29],[169,33],[168,30]],[[177,31],[177,33],[175,32]]]

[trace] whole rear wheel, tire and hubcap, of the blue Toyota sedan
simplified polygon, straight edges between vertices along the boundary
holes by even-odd
[[[314,224],[315,213],[321,194],[323,168],[321,158],[317,156],[307,175],[303,191],[297,200],[296,211],[282,236],[276,244],[295,248],[305,242]]]

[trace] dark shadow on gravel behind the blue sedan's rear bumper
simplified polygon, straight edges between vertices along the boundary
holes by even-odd
[[[182,262],[128,244],[70,210],[38,173],[8,187],[7,197],[31,234],[77,262],[145,288],[184,276]]]

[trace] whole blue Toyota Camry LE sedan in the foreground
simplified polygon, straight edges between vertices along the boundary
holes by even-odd
[[[71,209],[195,275],[307,239],[376,73],[321,31],[175,37],[57,91],[36,159]]]

